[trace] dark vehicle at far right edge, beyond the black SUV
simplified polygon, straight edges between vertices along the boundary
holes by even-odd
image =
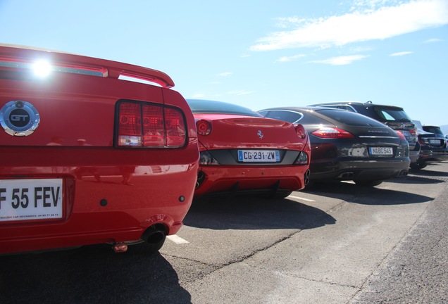
[[[425,125],[418,132],[420,155],[416,163],[411,164],[412,169],[423,169],[429,163],[438,163],[448,160],[447,139],[440,127]]]

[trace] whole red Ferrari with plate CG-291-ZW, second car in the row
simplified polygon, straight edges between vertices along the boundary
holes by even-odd
[[[187,102],[201,151],[197,198],[248,192],[283,198],[304,188],[311,156],[304,127],[263,118],[235,104]]]

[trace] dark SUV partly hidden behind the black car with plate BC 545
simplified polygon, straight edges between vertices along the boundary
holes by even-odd
[[[395,131],[401,132],[409,143],[409,158],[411,166],[417,163],[420,154],[420,145],[418,144],[417,127],[404,112],[403,108],[397,106],[384,106],[367,101],[335,101],[329,103],[316,103],[309,106],[323,106],[327,108],[340,108],[360,113],[370,118],[378,120],[391,127]]]

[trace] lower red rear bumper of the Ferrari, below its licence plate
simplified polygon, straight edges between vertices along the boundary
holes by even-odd
[[[290,166],[202,166],[195,196],[204,194],[296,191],[305,186],[307,165]]]

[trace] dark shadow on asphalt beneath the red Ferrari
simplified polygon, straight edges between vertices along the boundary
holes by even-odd
[[[318,208],[259,196],[194,201],[184,220],[187,226],[206,229],[312,229],[335,222]]]

